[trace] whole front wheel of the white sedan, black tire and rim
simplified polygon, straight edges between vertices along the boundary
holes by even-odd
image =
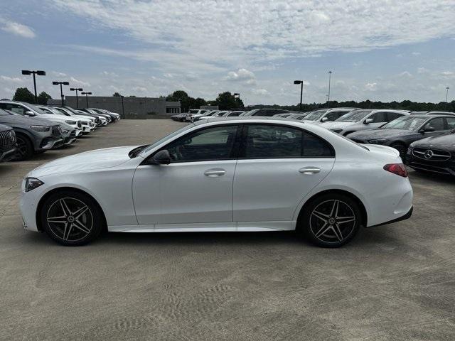
[[[41,227],[48,236],[68,247],[92,242],[105,227],[105,217],[95,200],[73,190],[62,190],[46,198],[40,215]]]

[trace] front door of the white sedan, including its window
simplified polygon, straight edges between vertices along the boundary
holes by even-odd
[[[133,180],[139,224],[232,222],[237,129],[192,131],[161,148],[171,155],[169,165],[139,166]]]

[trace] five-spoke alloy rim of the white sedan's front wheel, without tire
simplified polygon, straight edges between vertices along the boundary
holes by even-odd
[[[50,232],[65,242],[77,242],[87,237],[93,228],[90,208],[74,197],[62,197],[50,205],[46,222]]]

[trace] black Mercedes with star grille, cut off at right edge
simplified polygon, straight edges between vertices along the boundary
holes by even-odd
[[[451,134],[413,142],[405,163],[416,171],[455,176],[455,124]]]

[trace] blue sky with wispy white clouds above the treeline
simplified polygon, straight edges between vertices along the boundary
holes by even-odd
[[[245,104],[455,98],[454,0],[2,0],[0,97],[22,69],[97,95],[186,90]],[[453,89],[453,90],[452,90]],[[67,90],[67,93],[69,91]]]

